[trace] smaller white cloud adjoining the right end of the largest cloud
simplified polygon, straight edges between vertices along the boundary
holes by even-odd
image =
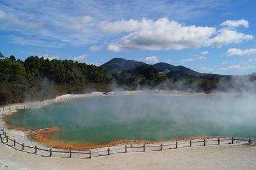
[[[230,29],[220,29],[218,35],[207,40],[206,46],[221,47],[222,45],[227,45],[229,43],[240,43],[252,39],[252,35],[246,35]]]

